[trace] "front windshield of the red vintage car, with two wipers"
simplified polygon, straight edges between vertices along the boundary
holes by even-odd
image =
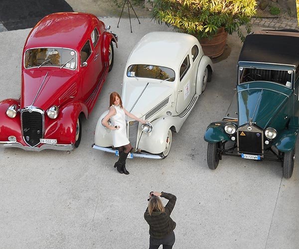
[[[76,69],[77,55],[66,48],[33,48],[28,49],[24,58],[25,68],[54,66]]]

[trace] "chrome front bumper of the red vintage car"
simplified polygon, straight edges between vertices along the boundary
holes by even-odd
[[[44,149],[55,149],[55,150],[66,150],[70,151],[74,149],[73,144],[50,144],[50,143],[44,143],[40,147],[30,147],[30,146],[24,146],[23,144],[19,142],[14,141],[0,141],[0,147],[4,148],[20,148],[24,150],[31,150],[31,151],[41,151]]]

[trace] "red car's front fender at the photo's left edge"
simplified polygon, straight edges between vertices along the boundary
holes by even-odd
[[[8,141],[8,136],[15,136],[17,141],[22,140],[20,113],[15,118],[6,115],[8,107],[16,105],[19,107],[19,100],[7,99],[0,102],[0,141]]]

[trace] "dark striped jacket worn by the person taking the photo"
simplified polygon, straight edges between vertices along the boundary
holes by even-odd
[[[170,214],[174,208],[176,197],[175,195],[161,192],[161,197],[168,199],[165,206],[165,212],[153,211],[149,215],[148,208],[145,212],[145,220],[149,223],[149,235],[155,239],[165,238],[175,229],[175,222],[170,218]]]

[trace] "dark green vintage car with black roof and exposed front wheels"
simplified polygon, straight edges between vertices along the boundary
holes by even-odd
[[[299,132],[299,33],[268,30],[247,35],[238,61],[233,101],[222,121],[209,124],[207,163],[222,155],[282,162],[294,169]]]

